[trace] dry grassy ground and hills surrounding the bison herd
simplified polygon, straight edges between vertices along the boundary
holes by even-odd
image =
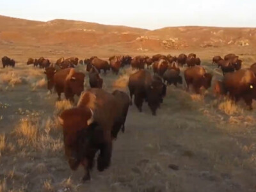
[[[214,82],[221,74],[214,70],[212,56],[234,52],[243,67],[256,61],[255,29],[148,31],[0,17],[0,31],[1,56],[17,61],[15,68],[0,68],[0,191],[256,191],[255,102],[248,111],[244,102],[234,106],[216,99],[211,89],[198,96],[185,92],[185,84],[168,86],[157,116],[146,104],[142,113],[135,106],[129,108],[125,133],[114,142],[111,166],[102,173],[94,169],[92,180],[83,184],[83,169],[72,172],[68,167],[56,122],[60,110],[70,106],[56,104],[56,93],[49,94],[42,80],[43,70],[26,65],[29,57],[39,56],[54,62],[61,56],[107,59],[113,54],[195,52],[214,74]],[[216,36],[221,40],[215,43]],[[163,45],[163,40],[170,38],[173,47],[166,49],[170,42]],[[249,45],[239,45],[242,39]],[[230,40],[234,43],[228,44]],[[203,48],[208,41],[213,45]],[[84,66],[77,70],[84,71]],[[131,73],[124,68],[119,76],[102,74],[103,88],[128,93],[125,81]],[[88,76],[84,86],[88,88]]]

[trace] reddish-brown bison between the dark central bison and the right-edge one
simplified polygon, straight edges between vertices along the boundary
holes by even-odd
[[[204,86],[205,89],[211,87],[212,75],[205,72],[204,67],[194,66],[187,68],[184,71],[184,77],[187,84],[187,91],[189,90],[189,85],[192,84],[196,93],[200,93],[200,88]]]

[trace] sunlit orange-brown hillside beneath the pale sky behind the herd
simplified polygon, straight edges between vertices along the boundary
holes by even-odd
[[[172,27],[153,31],[56,19],[48,22],[0,16],[0,45],[115,47],[124,51],[255,46],[255,28]],[[93,48],[92,48],[93,49]]]

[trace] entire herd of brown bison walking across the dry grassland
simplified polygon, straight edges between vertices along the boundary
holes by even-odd
[[[15,67],[15,61],[4,56],[3,67]],[[167,56],[156,54],[148,56],[111,56],[108,61],[97,56],[85,60],[76,57],[60,58],[55,63],[41,57],[29,58],[27,65],[44,68],[47,78],[47,89],[52,92],[54,88],[61,99],[74,102],[74,95],[79,96],[77,106],[63,111],[58,120],[63,127],[63,140],[65,155],[72,170],[79,164],[84,166],[83,180],[90,179],[90,170],[97,151],[97,169],[102,172],[111,162],[112,141],[117,138],[120,130],[125,131],[125,119],[129,105],[134,104],[142,111],[143,102],[147,102],[152,115],[156,115],[157,108],[163,103],[166,95],[166,86],[182,84],[180,67],[184,69],[184,81],[193,86],[196,93],[200,88],[211,87],[212,74],[201,66],[200,58],[196,54],[180,54]],[[256,63],[250,68],[243,68],[242,61],[235,54],[227,54],[224,59],[214,56],[212,64],[217,65],[223,72],[222,79],[214,83],[213,91],[216,95],[228,95],[230,99],[238,101],[244,99],[252,109],[252,100],[256,99]],[[90,87],[84,91],[84,72],[77,72],[77,65],[86,65]],[[148,70],[145,69],[145,65]],[[102,89],[104,83],[100,73],[106,74],[109,70],[117,75],[120,68],[131,66],[137,70],[129,76],[129,95],[115,90],[112,93]],[[153,70],[153,74],[150,72]]]

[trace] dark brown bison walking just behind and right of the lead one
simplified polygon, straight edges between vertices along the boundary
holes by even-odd
[[[150,72],[140,70],[129,77],[128,87],[131,96],[134,95],[134,103],[139,111],[142,111],[142,104],[145,100],[152,111],[152,115],[156,115],[156,109],[163,102],[166,94],[166,85],[162,82],[161,77],[152,77]]]

